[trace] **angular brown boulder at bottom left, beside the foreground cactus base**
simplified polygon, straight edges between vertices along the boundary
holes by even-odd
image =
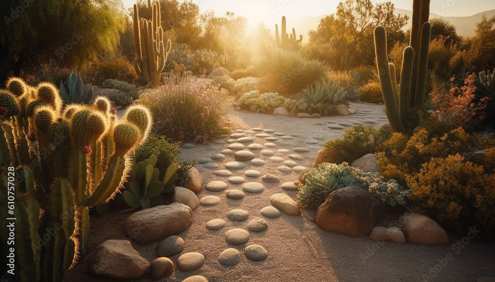
[[[138,279],[150,263],[127,240],[107,240],[93,253],[89,269],[96,275],[112,279]]]

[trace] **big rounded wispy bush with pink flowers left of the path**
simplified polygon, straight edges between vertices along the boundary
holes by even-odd
[[[231,99],[225,91],[187,74],[165,81],[167,84],[148,90],[139,100],[155,118],[154,132],[174,141],[198,143],[230,132],[226,109]]]

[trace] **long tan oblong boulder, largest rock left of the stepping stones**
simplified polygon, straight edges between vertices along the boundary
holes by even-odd
[[[177,235],[193,223],[193,211],[185,204],[174,202],[135,212],[124,224],[124,232],[134,241],[147,245]]]

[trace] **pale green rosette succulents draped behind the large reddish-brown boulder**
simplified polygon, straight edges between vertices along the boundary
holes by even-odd
[[[358,186],[372,193],[373,197],[391,206],[405,205],[406,199],[412,194],[400,186],[395,180],[384,181],[377,172],[363,172],[342,164],[320,163],[304,174],[305,183],[299,183],[297,199],[302,207],[318,208],[335,190]]]

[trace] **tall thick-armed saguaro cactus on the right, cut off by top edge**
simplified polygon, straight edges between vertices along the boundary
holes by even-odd
[[[395,66],[388,60],[385,29],[377,26],[374,31],[385,112],[392,128],[398,132],[409,131],[421,119],[428,77],[429,15],[430,0],[413,0],[411,38],[403,53],[400,89],[397,89]]]

